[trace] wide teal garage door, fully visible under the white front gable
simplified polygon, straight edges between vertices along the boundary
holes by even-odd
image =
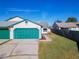
[[[14,39],[38,39],[39,30],[37,28],[16,28]]]

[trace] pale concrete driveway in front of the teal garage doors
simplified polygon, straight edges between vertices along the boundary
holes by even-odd
[[[38,40],[12,40],[0,45],[0,59],[38,59]]]

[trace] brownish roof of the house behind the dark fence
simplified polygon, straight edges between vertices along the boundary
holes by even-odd
[[[61,28],[76,28],[78,27],[77,24],[79,24],[79,22],[62,22],[62,23],[56,23],[57,26],[61,27]]]

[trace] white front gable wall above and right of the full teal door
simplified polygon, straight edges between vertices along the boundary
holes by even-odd
[[[15,28],[37,28],[39,30],[39,39],[41,39],[41,31],[42,31],[41,26],[36,25],[36,24],[34,24],[32,22],[29,22],[29,21],[27,23],[25,23],[25,21],[21,22],[21,23],[15,25],[14,29]]]

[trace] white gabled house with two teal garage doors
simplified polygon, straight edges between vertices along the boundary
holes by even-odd
[[[41,25],[20,17],[0,21],[0,39],[41,39]]]

